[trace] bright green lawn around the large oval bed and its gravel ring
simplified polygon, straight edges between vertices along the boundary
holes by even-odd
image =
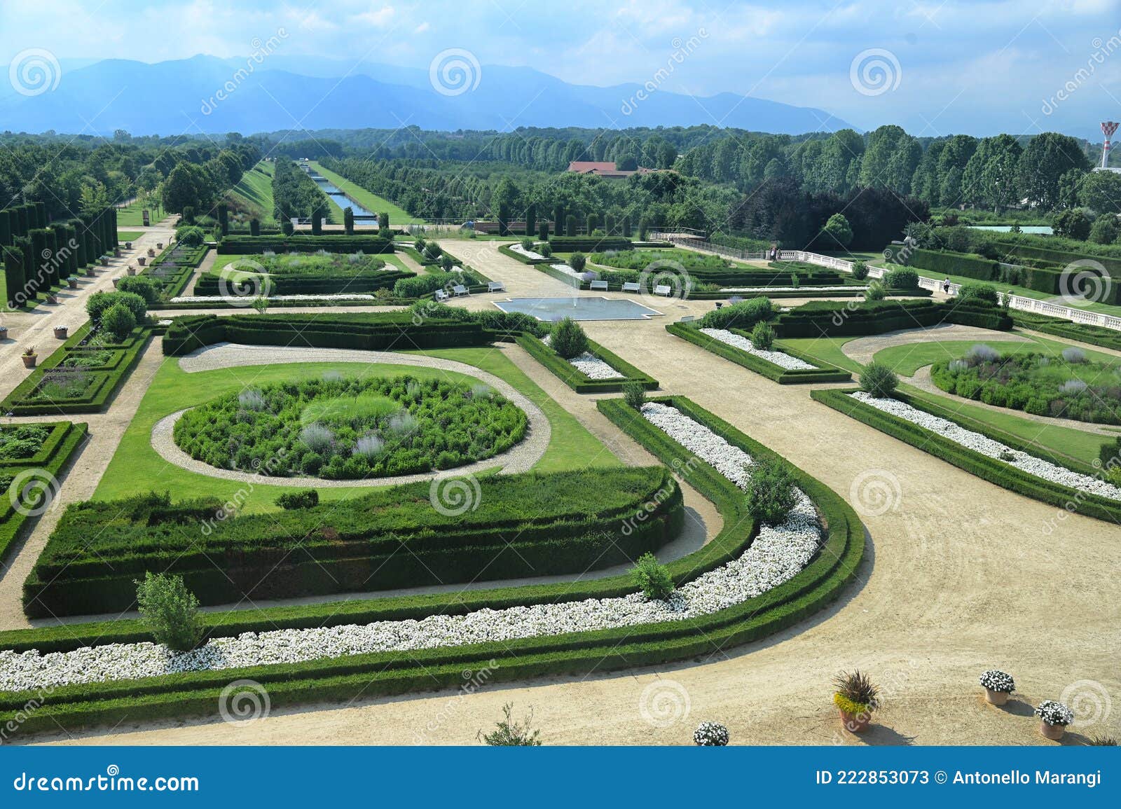
[[[549,420],[552,438],[545,455],[534,468],[541,472],[558,472],[621,465],[610,449],[499,351],[492,347],[479,347],[408,353],[455,360],[489,371],[504,379],[536,403]],[[179,369],[175,359],[168,357],[148,387],[136,417],[121,438],[120,446],[94,492],[94,499],[113,500],[150,491],[169,491],[174,500],[217,496],[223,501],[243,503],[239,509],[242,513],[275,510],[272,501],[282,492],[294,491],[291,486],[226,481],[168,464],[151,447],[151,429],[165,416],[201,404],[215,397],[234,393],[250,385],[317,379],[326,371],[337,371],[350,376],[376,374],[397,376],[409,373],[420,379],[450,379],[467,384],[478,381],[472,376],[435,369],[346,362],[259,365],[187,373]],[[370,489],[372,486],[325,486],[319,489],[319,496],[323,500],[342,500],[356,496]]]

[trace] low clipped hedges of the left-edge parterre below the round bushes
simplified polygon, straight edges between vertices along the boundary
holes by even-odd
[[[44,382],[44,376],[53,372],[67,360],[82,356],[91,350],[84,347],[84,343],[90,334],[90,324],[85,324],[75,334],[71,335],[50,356],[43,361],[27,379],[19,383],[9,393],[0,408],[4,412],[16,416],[52,416],[58,413],[91,413],[102,412],[108,407],[112,398],[120,390],[129,372],[140,361],[145,346],[152,335],[151,326],[137,326],[132,333],[121,343],[113,343],[95,351],[110,352],[110,359],[104,365],[94,365],[83,369],[90,384],[82,396],[73,399],[52,399],[37,401],[31,397]],[[57,372],[56,372],[57,373]],[[77,372],[75,372],[77,373]]]

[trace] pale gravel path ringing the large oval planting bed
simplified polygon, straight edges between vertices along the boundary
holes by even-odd
[[[451,469],[439,469],[437,472],[419,473],[415,475],[396,475],[393,477],[369,477],[359,481],[328,481],[322,477],[270,477],[268,483],[278,486],[300,486],[312,487],[355,487],[355,486],[396,486],[404,483],[417,483],[434,478],[458,477],[471,475],[484,469],[501,467],[499,474],[512,475],[520,472],[528,472],[549,446],[549,438],[553,429],[549,420],[545,417],[534,402],[519,393],[506,380],[499,379],[492,373],[482,371],[474,365],[467,365],[454,360],[441,360],[432,356],[414,356],[410,354],[395,354],[392,352],[380,351],[356,351],[351,348],[311,348],[300,346],[259,346],[240,345],[235,343],[215,343],[200,351],[193,352],[179,359],[179,368],[187,373],[200,373],[203,371],[216,371],[225,368],[239,365],[278,365],[285,363],[307,363],[307,362],[355,362],[369,365],[379,363],[383,365],[414,365],[417,368],[436,369],[439,371],[453,371],[472,376],[485,382],[499,393],[509,399],[513,404],[526,413],[529,420],[526,437],[504,453],[494,455],[473,464],[456,466]],[[156,426],[151,428],[151,447],[164,461],[179,466],[187,472],[194,472],[210,477],[221,477],[226,481],[239,481],[241,483],[261,483],[261,475],[254,472],[241,472],[239,469],[220,469],[202,461],[196,461],[187,453],[183,452],[175,443],[173,435],[175,422],[186,410],[178,410],[169,416],[165,416]]]

